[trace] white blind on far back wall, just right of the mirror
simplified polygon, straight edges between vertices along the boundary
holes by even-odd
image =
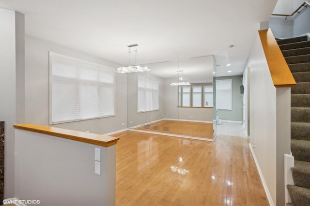
[[[217,80],[217,109],[232,110],[232,80]]]

